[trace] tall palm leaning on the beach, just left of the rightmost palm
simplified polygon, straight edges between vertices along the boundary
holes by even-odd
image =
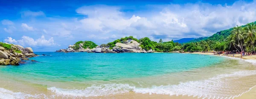
[[[241,49],[241,51],[243,51],[243,46],[240,44],[240,40],[243,37],[242,36],[242,32],[241,32],[241,27],[239,27],[238,25],[236,25],[236,27],[233,28],[233,30],[231,31],[232,35],[234,35],[237,39],[238,45]]]

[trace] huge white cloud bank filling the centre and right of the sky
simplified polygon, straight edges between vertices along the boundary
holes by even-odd
[[[184,37],[211,36],[219,30],[256,21],[254,5],[256,1],[238,1],[233,5],[155,5],[162,9],[144,17],[136,16],[136,13],[129,17],[121,8],[107,5],[83,6],[76,12],[87,16],[79,20],[81,28],[102,33],[105,38],[112,35],[116,35],[117,38],[131,35],[139,38],[147,36],[154,40],[163,38],[168,41]]]

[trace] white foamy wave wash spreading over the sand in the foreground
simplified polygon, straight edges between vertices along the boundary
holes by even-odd
[[[220,74],[208,80],[180,82],[178,85],[160,85],[152,86],[151,88],[137,88],[128,84],[103,84],[98,86],[92,85],[82,90],[55,87],[47,89],[57,95],[81,97],[106,96],[134,91],[135,93],[143,94],[188,95],[197,96],[198,98],[233,99],[255,87],[256,81],[243,79],[251,75],[256,75],[256,71],[237,71],[231,74]],[[245,85],[244,82],[246,82]]]

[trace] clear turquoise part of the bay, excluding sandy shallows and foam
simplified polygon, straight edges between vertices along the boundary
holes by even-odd
[[[0,68],[0,71],[17,74],[25,79],[54,82],[109,81],[187,71],[211,66],[223,59],[209,55],[175,53],[35,52],[35,54],[50,56],[29,58],[38,62],[28,61],[20,66]]]

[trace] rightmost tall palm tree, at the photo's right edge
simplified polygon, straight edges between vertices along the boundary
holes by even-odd
[[[251,43],[253,46],[253,50],[255,53],[255,48],[254,48],[254,41],[256,39],[256,26],[255,24],[250,24],[248,23],[246,27],[243,28],[244,30],[244,40],[248,43]]]

